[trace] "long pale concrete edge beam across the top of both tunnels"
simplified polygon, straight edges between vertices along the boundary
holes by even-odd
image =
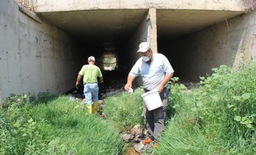
[[[243,10],[237,0],[34,0],[36,12],[112,9]]]

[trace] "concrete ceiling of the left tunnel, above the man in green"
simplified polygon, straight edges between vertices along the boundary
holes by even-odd
[[[38,13],[81,41],[128,39],[143,19],[143,10],[83,10]]]

